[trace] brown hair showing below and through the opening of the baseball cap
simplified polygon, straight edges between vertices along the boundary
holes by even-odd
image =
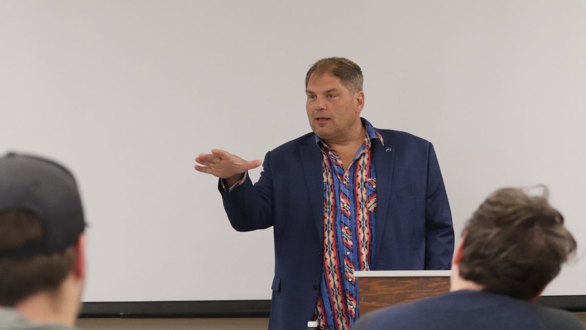
[[[0,212],[0,251],[35,243],[42,235],[42,225],[32,213]],[[0,259],[0,305],[14,306],[36,292],[59,288],[73,270],[75,257],[75,248],[69,247],[49,255]]]

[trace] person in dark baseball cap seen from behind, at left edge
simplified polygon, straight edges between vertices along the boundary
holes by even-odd
[[[0,158],[0,330],[73,329],[85,228],[69,170],[24,154]]]

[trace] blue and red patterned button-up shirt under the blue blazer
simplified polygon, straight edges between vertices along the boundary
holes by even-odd
[[[323,154],[323,269],[315,309],[319,328],[347,330],[358,315],[355,270],[369,270],[374,251],[376,174],[372,143],[383,137],[366,126],[364,143],[347,170],[335,150],[316,136]],[[371,142],[375,140],[374,142]]]

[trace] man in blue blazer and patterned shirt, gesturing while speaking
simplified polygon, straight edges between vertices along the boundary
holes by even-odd
[[[270,329],[346,330],[357,318],[355,270],[445,270],[454,250],[448,198],[430,142],[360,118],[362,70],[344,58],[306,75],[312,133],[269,151],[253,185],[223,150],[195,169],[220,178],[238,231],[274,227]]]

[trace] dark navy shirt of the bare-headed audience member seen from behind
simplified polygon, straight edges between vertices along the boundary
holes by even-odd
[[[584,330],[584,325],[567,312],[488,292],[456,291],[366,315],[356,329]]]

